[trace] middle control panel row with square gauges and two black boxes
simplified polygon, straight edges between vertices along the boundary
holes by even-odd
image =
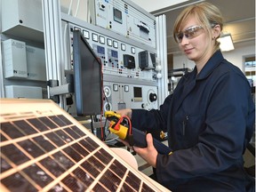
[[[76,29],[81,30],[93,51],[99,56],[103,66],[103,75],[122,76],[156,82],[156,52],[151,52],[148,60],[148,54],[141,54],[141,52],[148,51],[138,46],[122,42],[117,37],[106,36],[91,29],[82,28],[70,23],[69,36],[71,52],[72,31]]]

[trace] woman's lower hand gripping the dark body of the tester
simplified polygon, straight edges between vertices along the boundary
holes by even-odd
[[[148,143],[147,148],[138,148],[138,147],[133,147],[134,151],[141,156],[148,164],[156,168],[156,156],[157,156],[157,151],[156,148],[153,145],[153,137],[151,133],[148,133],[146,135],[146,140]]]

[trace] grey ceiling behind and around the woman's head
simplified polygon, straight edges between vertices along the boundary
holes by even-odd
[[[176,17],[188,4],[197,4],[202,1],[204,0],[189,0],[150,12],[155,16],[166,15],[168,54],[180,53],[178,44],[175,43],[172,36]],[[224,18],[223,33],[231,33],[235,49],[241,43],[255,44],[255,0],[207,0],[207,2],[220,8]]]

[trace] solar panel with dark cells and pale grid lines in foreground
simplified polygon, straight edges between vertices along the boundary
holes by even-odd
[[[1,191],[166,191],[52,100],[1,99]]]

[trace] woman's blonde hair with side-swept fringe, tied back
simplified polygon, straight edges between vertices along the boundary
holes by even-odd
[[[223,19],[220,10],[213,4],[203,2],[200,4],[193,4],[188,6],[177,17],[174,28],[173,28],[173,37],[175,38],[175,34],[180,32],[180,28],[182,28],[182,24],[188,20],[188,17],[194,16],[199,24],[207,31],[209,36],[212,36],[211,29],[215,25],[220,25],[220,31],[223,28]],[[215,45],[214,45],[214,52],[220,49],[220,43],[217,39],[220,36],[215,36]]]

